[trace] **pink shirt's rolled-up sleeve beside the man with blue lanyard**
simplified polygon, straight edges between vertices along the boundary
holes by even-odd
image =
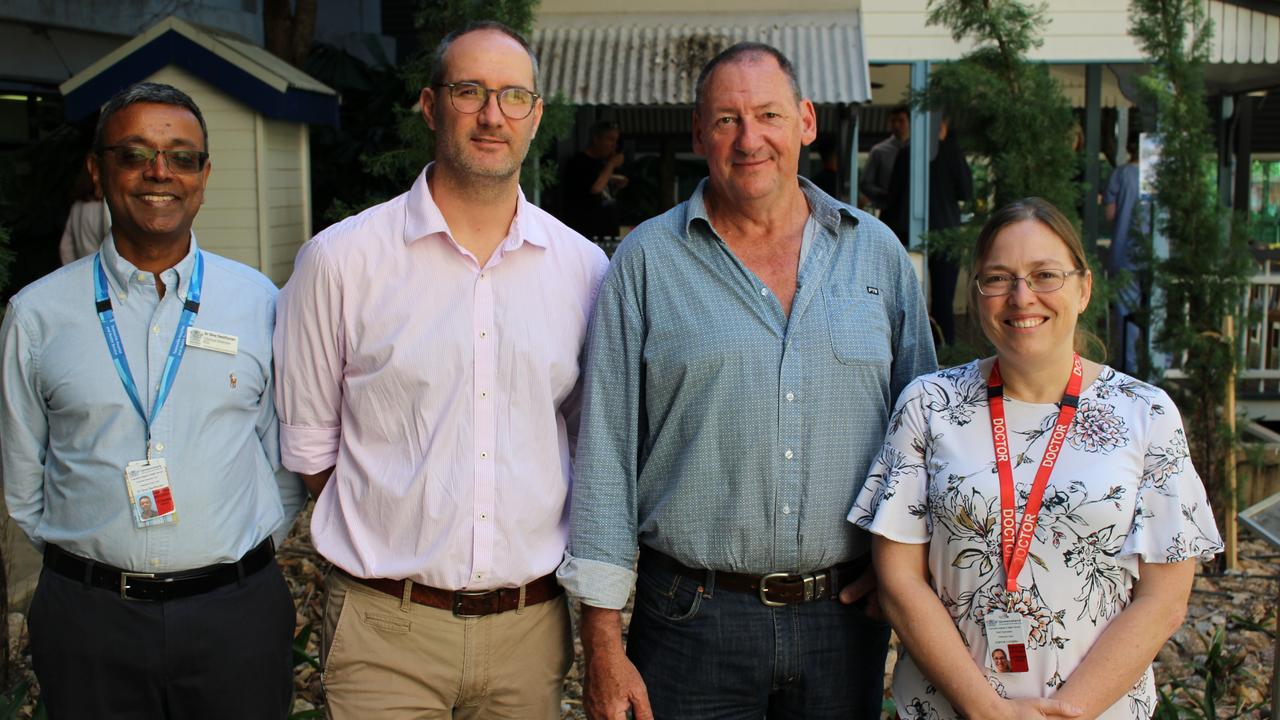
[[[340,279],[314,240],[280,291],[274,337],[280,460],[296,473],[328,470],[338,460],[346,347]]]

